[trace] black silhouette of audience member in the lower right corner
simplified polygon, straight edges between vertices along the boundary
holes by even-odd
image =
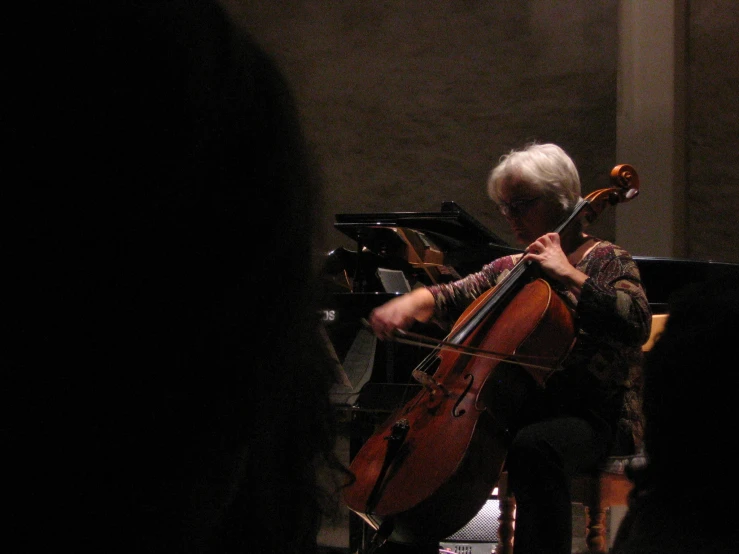
[[[732,361],[739,281],[725,275],[679,289],[644,367],[646,465],[614,553],[736,550],[733,442],[739,373]]]

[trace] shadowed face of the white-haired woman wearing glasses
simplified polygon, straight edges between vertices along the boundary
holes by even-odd
[[[517,178],[503,181],[498,207],[516,240],[525,246],[554,231],[562,217],[558,204]]]

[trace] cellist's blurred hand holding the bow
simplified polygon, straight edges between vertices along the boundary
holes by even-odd
[[[426,288],[415,289],[378,306],[369,316],[372,331],[380,339],[392,339],[416,321],[428,321],[434,313],[434,297]]]

